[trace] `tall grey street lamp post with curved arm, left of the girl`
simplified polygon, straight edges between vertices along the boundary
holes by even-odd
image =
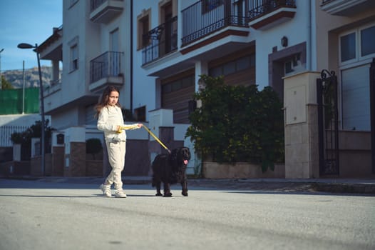
[[[39,93],[41,96],[41,173],[44,175],[46,171],[46,161],[45,161],[45,120],[44,120],[44,98],[43,98],[43,82],[41,80],[41,60],[39,59],[38,44],[32,46],[31,44],[19,44],[17,46],[19,49],[34,49],[36,52],[36,59],[38,61],[38,71],[39,71]]]

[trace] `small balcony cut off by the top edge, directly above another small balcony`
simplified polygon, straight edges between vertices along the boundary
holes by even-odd
[[[90,20],[108,24],[123,11],[123,0],[91,0]]]

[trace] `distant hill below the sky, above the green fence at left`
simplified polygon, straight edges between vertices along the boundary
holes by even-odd
[[[21,89],[24,86],[24,77],[22,69],[6,70],[2,72],[2,75],[9,81],[15,89]],[[43,86],[48,86],[52,79],[52,67],[41,66],[41,78]],[[38,67],[25,69],[25,88],[38,87],[39,86],[39,72]]]

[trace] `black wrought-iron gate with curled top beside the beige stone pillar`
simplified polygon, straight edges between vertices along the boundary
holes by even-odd
[[[337,76],[324,69],[317,79],[319,175],[339,175]]]

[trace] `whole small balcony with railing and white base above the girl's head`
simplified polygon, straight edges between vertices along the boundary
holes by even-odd
[[[122,55],[123,52],[108,51],[90,61],[90,91],[99,91],[109,84],[123,85]]]

